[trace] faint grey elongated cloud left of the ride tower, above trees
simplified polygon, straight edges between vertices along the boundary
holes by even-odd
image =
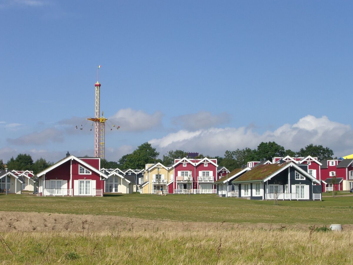
[[[43,131],[22,135],[15,139],[6,139],[12,145],[44,145],[48,142],[60,143],[64,141],[62,131],[55,128],[47,128]]]

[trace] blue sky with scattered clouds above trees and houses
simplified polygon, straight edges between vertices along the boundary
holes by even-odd
[[[106,158],[149,141],[223,155],[276,141],[353,153],[352,1],[0,2],[0,159]],[[109,124],[109,123],[108,123]],[[109,127],[109,126],[108,126]]]

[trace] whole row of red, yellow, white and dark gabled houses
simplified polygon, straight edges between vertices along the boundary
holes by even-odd
[[[0,192],[37,190],[38,196],[103,196],[103,193],[201,194],[248,199],[321,198],[321,192],[353,187],[353,159],[275,157],[250,161],[229,172],[217,159],[175,159],[174,164],[146,164],[144,169],[104,169],[100,158],[66,157],[42,172],[0,171]]]

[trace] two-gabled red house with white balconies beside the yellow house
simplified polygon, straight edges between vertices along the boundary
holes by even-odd
[[[173,190],[169,193],[216,193],[217,159],[174,159]]]

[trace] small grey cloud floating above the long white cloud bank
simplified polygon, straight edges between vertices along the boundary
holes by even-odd
[[[187,130],[198,130],[228,123],[230,119],[230,115],[226,112],[213,115],[207,111],[200,111],[198,113],[174,117],[172,123],[175,125],[181,125]]]

